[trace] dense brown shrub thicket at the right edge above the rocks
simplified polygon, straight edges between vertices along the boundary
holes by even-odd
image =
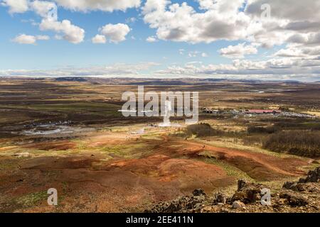
[[[270,135],[263,147],[306,157],[320,157],[320,133],[311,131],[282,131]]]

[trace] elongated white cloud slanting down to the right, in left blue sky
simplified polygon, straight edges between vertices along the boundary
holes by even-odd
[[[50,21],[43,19],[39,25],[41,31],[55,31],[56,33],[63,33],[63,39],[68,40],[70,43],[81,43],[85,38],[85,31],[74,26],[70,21]]]

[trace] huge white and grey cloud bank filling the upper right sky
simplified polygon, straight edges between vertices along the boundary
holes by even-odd
[[[156,29],[159,39],[188,43],[215,40],[247,40],[271,48],[282,45],[292,35],[319,30],[320,2],[314,0],[196,0],[198,9],[186,2],[147,0],[142,7],[144,22]],[[271,7],[271,17],[261,18],[263,4]],[[245,6],[244,10],[243,7]],[[290,7],[288,7],[290,6]],[[316,43],[310,34],[309,43]]]

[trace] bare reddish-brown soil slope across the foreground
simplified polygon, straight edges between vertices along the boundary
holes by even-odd
[[[99,140],[103,142],[102,138]],[[125,141],[130,143],[130,140]],[[299,158],[216,148],[166,136],[162,141],[144,139],[144,142],[150,145],[154,154],[139,159],[102,161],[98,154],[26,160],[11,157],[12,161],[18,162],[18,167],[0,171],[0,193],[4,195],[0,198],[0,211],[19,211],[22,207],[12,204],[12,198],[46,192],[52,187],[63,196],[58,208],[53,209],[43,201],[40,206],[24,207],[23,211],[141,211],[151,202],[174,199],[196,188],[211,192],[235,184],[235,177],[229,177],[220,167],[202,161],[204,150],[257,180],[303,175],[304,172],[297,167],[307,165]],[[63,141],[33,146],[51,150],[65,144],[72,145]],[[6,206],[7,203],[11,203],[10,206]]]

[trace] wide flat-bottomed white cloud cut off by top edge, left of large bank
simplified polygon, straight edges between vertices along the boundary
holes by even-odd
[[[74,11],[125,11],[140,6],[140,0],[55,0],[60,6]]]

